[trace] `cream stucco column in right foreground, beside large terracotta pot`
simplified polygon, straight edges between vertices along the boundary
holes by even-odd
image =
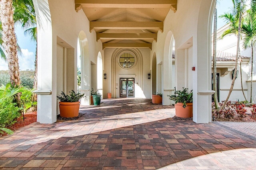
[[[210,2],[212,1],[212,2]],[[211,25],[215,0],[204,0],[200,6],[198,29],[193,37],[193,121],[212,120],[211,99]]]

